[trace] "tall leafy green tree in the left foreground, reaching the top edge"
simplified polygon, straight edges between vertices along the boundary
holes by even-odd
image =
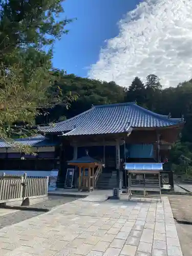
[[[49,88],[58,79],[58,74],[51,72],[54,42],[68,32],[65,26],[71,22],[60,17],[64,12],[62,2],[0,0],[2,138],[15,132],[12,125],[28,127],[34,124],[36,115],[42,114],[39,110],[59,102],[61,90],[51,95]]]

